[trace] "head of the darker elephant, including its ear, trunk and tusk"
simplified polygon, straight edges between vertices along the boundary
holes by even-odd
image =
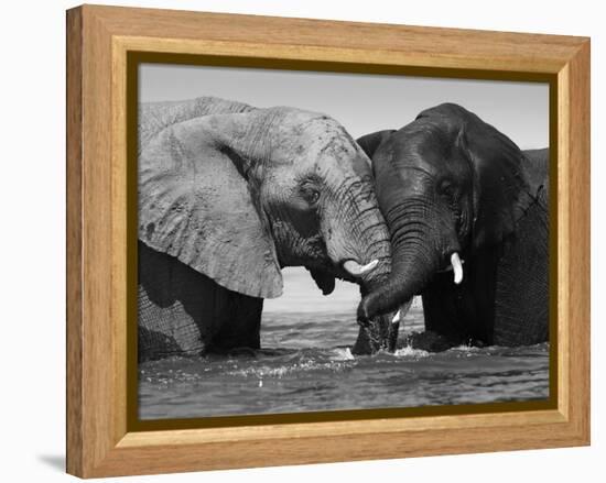
[[[531,199],[522,152],[457,105],[424,110],[402,129],[358,143],[372,158],[392,243],[390,278],[361,300],[362,321],[396,310],[440,272],[461,284],[474,257],[513,232]]]

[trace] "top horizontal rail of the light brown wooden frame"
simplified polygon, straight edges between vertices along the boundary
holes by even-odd
[[[175,10],[89,7],[115,35],[161,40],[163,51],[196,43],[249,45],[255,56],[282,58],[323,52],[350,53],[354,62],[556,73],[580,39],[456,29],[232,15]],[[170,41],[166,42],[166,39]],[[209,53],[209,52],[206,52]],[[349,58],[351,57],[351,58]]]

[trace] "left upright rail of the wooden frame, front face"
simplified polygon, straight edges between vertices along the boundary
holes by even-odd
[[[112,413],[111,51],[100,21],[83,10],[83,474],[116,443]],[[102,395],[102,396],[101,396]]]

